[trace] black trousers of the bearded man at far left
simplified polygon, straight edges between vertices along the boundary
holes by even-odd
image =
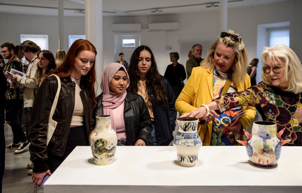
[[[13,143],[25,142],[27,140],[17,118],[18,110],[20,109],[20,107],[22,107],[22,100],[6,100],[5,120],[11,126],[11,130],[13,132]]]

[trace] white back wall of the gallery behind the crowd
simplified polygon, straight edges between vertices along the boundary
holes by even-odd
[[[236,8],[228,10],[228,28],[239,33],[246,45],[249,60],[257,57],[257,26],[290,21],[290,46],[302,60],[302,1],[288,1],[271,5],[261,5],[249,8]],[[16,45],[20,43],[20,34],[47,34],[49,37],[49,50],[56,53],[59,48],[58,18],[54,16],[34,16],[0,14],[1,36],[0,43],[10,41]],[[148,32],[148,23],[180,22],[179,31]],[[112,23],[141,23],[143,31],[137,33],[113,33]],[[160,73],[170,64],[169,53],[179,52],[181,41],[214,41],[220,34],[219,12],[203,12],[192,14],[174,14],[138,17],[104,17],[104,67],[114,62],[114,35],[138,34],[141,45],[148,45],[156,58]],[[65,18],[65,44],[68,48],[68,35],[84,35],[84,17]],[[194,43],[192,42],[192,45]],[[172,50],[165,50],[172,46]],[[204,53],[207,50],[203,51]],[[185,53],[187,55],[187,53]],[[185,65],[187,57],[180,58],[179,62]],[[259,64],[259,66],[261,66]],[[99,72],[101,73],[101,72]],[[259,72],[260,73],[260,72]]]

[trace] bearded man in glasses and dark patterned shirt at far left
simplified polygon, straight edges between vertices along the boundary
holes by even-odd
[[[6,77],[11,69],[22,71],[21,61],[14,53],[14,44],[5,42],[1,45],[1,49],[4,58],[8,59],[8,63],[3,68]],[[13,141],[5,147],[5,150],[14,150],[14,153],[22,153],[27,150],[30,144],[17,119],[18,110],[22,107],[23,90],[15,85],[10,85],[8,82],[6,87],[5,120],[11,126]]]

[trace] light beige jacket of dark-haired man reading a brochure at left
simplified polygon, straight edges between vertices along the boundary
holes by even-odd
[[[26,77],[19,76],[17,82],[24,86],[23,100],[24,107],[33,107],[35,95],[37,93],[37,69],[38,69],[38,59],[35,57],[31,60],[26,71]]]

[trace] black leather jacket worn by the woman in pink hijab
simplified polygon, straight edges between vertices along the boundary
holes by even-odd
[[[103,115],[103,93],[97,97],[98,105],[94,111],[96,115]],[[138,139],[145,143],[152,131],[151,117],[146,103],[140,95],[127,91],[124,105],[124,120],[127,134],[127,145],[133,146]]]

